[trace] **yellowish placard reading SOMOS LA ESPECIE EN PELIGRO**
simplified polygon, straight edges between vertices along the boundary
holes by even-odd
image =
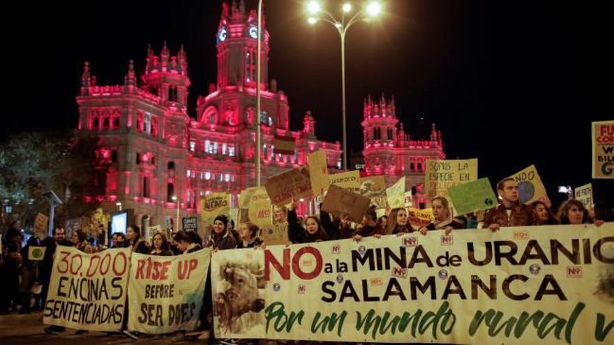
[[[470,160],[426,160],[424,194],[449,199],[448,188],[477,180],[477,158]]]

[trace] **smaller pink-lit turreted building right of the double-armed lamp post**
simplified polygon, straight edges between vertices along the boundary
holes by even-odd
[[[394,97],[364,100],[364,176],[384,176],[388,186],[405,176],[405,190],[414,192],[414,204],[424,203],[422,188],[427,159],[444,159],[441,131],[430,132],[430,140],[412,140],[398,123]]]

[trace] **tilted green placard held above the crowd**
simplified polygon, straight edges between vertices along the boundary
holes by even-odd
[[[488,178],[480,178],[477,181],[449,187],[448,194],[459,215],[472,213],[477,209],[488,210],[499,204]]]

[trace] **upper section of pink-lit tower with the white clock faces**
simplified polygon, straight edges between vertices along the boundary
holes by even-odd
[[[218,88],[225,86],[256,87],[256,50],[258,18],[256,10],[246,13],[243,0],[237,6],[232,1],[229,9],[223,3],[222,17],[216,33],[218,49]],[[262,27],[264,15],[262,16]],[[261,89],[268,89],[269,33],[262,32],[262,83]]]

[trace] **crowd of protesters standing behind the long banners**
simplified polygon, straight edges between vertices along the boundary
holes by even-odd
[[[518,182],[514,178],[504,178],[498,182],[495,191],[498,204],[486,210],[476,209],[462,215],[453,215],[451,202],[446,197],[432,197],[428,200],[432,208],[432,218],[428,224],[412,224],[410,211],[398,205],[387,207],[387,213],[380,217],[377,217],[375,206],[370,205],[364,208],[361,219],[355,217],[350,219],[350,216],[344,212],[330,210],[327,212],[328,209],[322,205],[317,206],[318,212],[315,214],[299,214],[295,207],[297,199],[294,197],[291,197],[292,200],[285,205],[273,203],[271,218],[274,224],[287,224],[284,228],[287,229],[287,234],[283,236],[287,240],[287,245],[340,239],[361,241],[370,236],[380,238],[388,235],[403,236],[405,233],[429,236],[430,231],[435,230],[443,230],[445,234],[458,231],[458,236],[463,236],[465,231],[472,229],[501,231],[505,227],[535,227],[534,231],[539,231],[540,226],[557,224],[594,224],[595,227],[601,227],[606,222],[614,221],[611,206],[596,202],[592,207],[586,208],[581,201],[571,196],[560,202],[555,210],[544,201],[521,204]],[[246,217],[241,219],[246,220]],[[229,215],[219,214],[213,222],[204,224],[204,227],[207,227],[204,231],[207,234],[205,238],[202,238],[197,231],[172,231],[170,238],[167,238],[165,232],[158,232],[153,234],[151,243],[146,239],[143,229],[130,225],[126,233],[112,233],[107,248],[103,245],[94,245],[83,231],[72,231],[68,234],[60,226],[53,229],[50,237],[40,240],[32,236],[27,243],[23,243],[24,235],[20,224],[13,222],[2,238],[0,313],[26,314],[45,309],[54,266],[54,253],[58,246],[75,247],[86,254],[129,248],[130,252],[151,256],[184,256],[206,248],[214,252],[240,248],[266,250],[267,241],[263,242],[261,227],[248,220],[237,223],[239,224],[234,224]],[[35,261],[30,257],[32,247],[45,248],[42,259]],[[194,332],[181,330],[158,336],[177,340],[186,337],[194,339],[214,337],[211,332],[211,313],[216,301],[212,297],[210,280],[211,273],[208,273],[199,322]],[[127,298],[130,299],[130,296]],[[251,308],[262,309],[262,306]],[[128,312],[123,313],[124,319],[127,319],[127,316]],[[126,328],[126,320],[123,321],[123,325],[123,330],[117,334],[123,333],[134,339],[151,336],[129,331]],[[45,327],[45,332],[52,335],[67,331],[65,327],[59,325]],[[77,330],[77,332],[88,331]]]

